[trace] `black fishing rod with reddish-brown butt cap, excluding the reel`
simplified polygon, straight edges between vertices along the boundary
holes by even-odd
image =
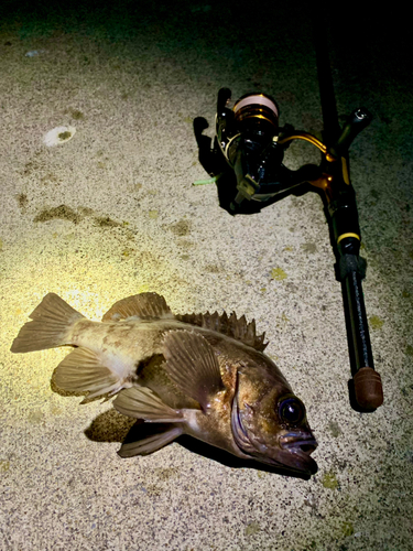
[[[380,375],[374,371],[366,315],[361,279],[366,262],[359,257],[360,228],[356,196],[348,175],[348,148],[357,133],[371,120],[370,114],[360,108],[355,111],[345,128],[338,122],[330,60],[328,55],[327,21],[318,6],[314,9],[313,30],[323,111],[323,138],[333,159],[326,165],[332,169],[330,195],[325,196],[327,218],[338,266],[344,310],[347,324],[347,341],[352,368],[350,401],[355,409],[373,411],[383,402]],[[340,158],[341,159],[340,161]],[[345,169],[344,169],[345,168]],[[344,174],[346,170],[346,174]],[[327,172],[329,170],[327,169]],[[338,245],[340,244],[340,245]]]

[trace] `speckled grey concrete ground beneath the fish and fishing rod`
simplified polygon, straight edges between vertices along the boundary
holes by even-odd
[[[282,125],[319,136],[306,3],[44,4],[0,9],[0,549],[411,550],[413,83],[401,21],[357,13],[327,36],[339,115],[363,105],[374,116],[350,155],[384,389],[366,414],[348,400],[319,197],[232,217],[215,185],[192,186],[208,177],[193,120],[214,136],[221,86],[273,95]],[[47,147],[61,126],[76,133]],[[285,164],[318,160],[301,142]],[[307,407],[318,473],[237,468],[185,442],[121,460],[130,421],[51,386],[67,349],[9,352],[51,291],[93,320],[143,291],[177,313],[254,317]]]

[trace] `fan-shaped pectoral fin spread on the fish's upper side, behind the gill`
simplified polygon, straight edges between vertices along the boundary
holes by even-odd
[[[225,389],[214,348],[202,335],[170,331],[163,342],[163,355],[171,379],[204,411],[211,397]]]

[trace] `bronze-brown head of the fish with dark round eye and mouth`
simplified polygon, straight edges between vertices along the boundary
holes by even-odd
[[[317,442],[305,406],[282,376],[238,372],[231,430],[237,446],[251,460],[303,475],[317,472],[311,457]]]

